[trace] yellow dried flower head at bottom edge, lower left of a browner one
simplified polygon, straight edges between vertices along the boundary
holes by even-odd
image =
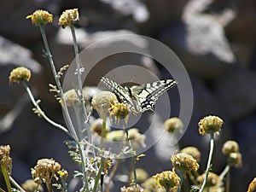
[[[153,176],[156,179],[156,185],[162,189],[176,189],[180,183],[180,178],[174,170],[157,173]]]

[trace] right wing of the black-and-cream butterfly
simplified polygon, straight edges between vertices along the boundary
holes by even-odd
[[[147,110],[154,111],[154,103],[158,97],[176,84],[177,82],[173,79],[165,79],[153,83],[132,86],[131,95],[137,98],[137,102],[140,103],[142,108],[142,113]]]

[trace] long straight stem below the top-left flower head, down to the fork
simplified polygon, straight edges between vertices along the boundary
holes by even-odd
[[[49,64],[50,64],[50,67],[51,67],[51,71],[52,71],[52,73],[54,75],[54,78],[55,78],[55,83],[56,83],[56,85],[58,87],[58,90],[60,91],[59,95],[60,95],[61,101],[63,103],[63,113],[65,114],[65,116],[67,118],[67,125],[70,128],[71,135],[72,135],[73,139],[75,141],[78,141],[78,136],[76,134],[76,131],[75,131],[74,127],[73,127],[72,120],[71,120],[70,115],[68,113],[67,103],[64,100],[64,94],[63,94],[63,90],[61,88],[61,82],[60,82],[60,79],[59,79],[59,77],[58,77],[58,75],[56,73],[55,64],[54,64],[54,61],[52,59],[52,55],[50,54],[50,51],[49,51],[49,44],[48,44],[48,41],[47,41],[47,38],[46,38],[46,35],[45,35],[45,29],[44,29],[43,25],[40,26],[40,31],[41,31],[42,38],[43,38],[43,41],[44,41],[44,47],[46,49],[46,53],[47,53],[47,56],[48,56]]]

